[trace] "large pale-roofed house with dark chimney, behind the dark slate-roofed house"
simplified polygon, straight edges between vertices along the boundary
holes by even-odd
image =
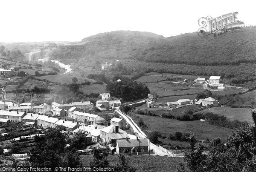
[[[113,125],[101,129],[99,137],[102,139],[102,142],[110,144],[110,147],[116,146],[116,140],[130,138],[125,131],[119,129],[118,126]]]

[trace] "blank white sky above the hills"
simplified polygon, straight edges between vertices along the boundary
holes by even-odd
[[[253,0],[4,0],[0,5],[0,42],[81,41],[116,30],[170,37],[197,32],[201,17],[235,11],[245,25],[256,25]]]

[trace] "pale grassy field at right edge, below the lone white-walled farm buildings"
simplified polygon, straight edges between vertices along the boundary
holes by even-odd
[[[251,110],[246,108],[214,107],[214,108],[204,109],[197,113],[203,113],[203,112],[213,112],[218,115],[224,115],[229,120],[240,120],[240,121],[247,121],[250,124],[253,123]]]

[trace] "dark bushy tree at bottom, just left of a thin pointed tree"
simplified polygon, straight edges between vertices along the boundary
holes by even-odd
[[[90,162],[90,166],[93,167],[106,167],[109,166],[107,159],[108,152],[105,150],[100,150],[93,148],[93,161]]]

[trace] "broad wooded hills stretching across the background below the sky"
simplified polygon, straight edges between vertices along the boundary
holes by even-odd
[[[93,60],[119,59],[143,72],[215,74],[244,81],[254,80],[256,74],[256,27],[217,37],[199,37],[194,32],[166,38],[150,32],[115,31],[86,37],[79,44],[84,49],[55,50],[53,57],[77,59],[74,65],[80,67]]]

